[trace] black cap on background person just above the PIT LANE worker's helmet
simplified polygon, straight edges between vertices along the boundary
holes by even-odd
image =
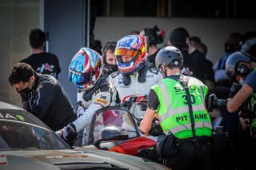
[[[190,34],[185,28],[178,27],[170,32],[169,41],[174,45],[186,45],[186,38],[190,38]]]

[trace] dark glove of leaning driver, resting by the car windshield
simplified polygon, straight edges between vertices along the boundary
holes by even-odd
[[[77,130],[74,124],[66,125],[64,128],[55,132],[62,140],[66,141],[67,144],[73,146],[74,141],[77,139]]]

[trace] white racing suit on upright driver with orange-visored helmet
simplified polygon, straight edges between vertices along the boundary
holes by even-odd
[[[141,101],[145,96],[150,93],[150,88],[161,81],[164,78],[163,73],[154,67],[151,66],[144,66],[145,68],[142,68],[139,70],[139,72],[134,74],[128,74],[130,77],[130,84],[125,85],[126,77],[123,77],[122,73],[114,72],[110,74],[109,81],[110,85],[113,86],[114,91],[117,91],[119,98],[122,103],[125,101],[131,101],[132,105],[130,107],[130,113],[134,114],[135,117],[144,117],[145,111],[142,111],[140,109],[140,105],[138,105],[138,102]],[[144,69],[144,70],[143,70]],[[144,82],[143,81],[143,73],[142,71],[145,71],[144,73]],[[141,74],[141,75],[139,75]],[[135,120],[137,122],[137,120]],[[130,125],[122,125],[122,128],[129,131]],[[132,128],[131,128],[132,129]]]

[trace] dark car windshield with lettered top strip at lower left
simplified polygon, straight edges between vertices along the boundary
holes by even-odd
[[[64,148],[69,146],[30,113],[0,109],[0,151]]]

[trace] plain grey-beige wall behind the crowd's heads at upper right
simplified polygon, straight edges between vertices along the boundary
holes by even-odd
[[[224,42],[231,32],[241,34],[246,31],[256,31],[255,19],[218,19],[218,18],[106,18],[98,17],[95,22],[95,38],[105,44],[109,40],[118,41],[131,30],[142,30],[157,25],[166,31],[184,27],[190,36],[197,35],[208,47],[207,58],[218,61],[224,53]]]

